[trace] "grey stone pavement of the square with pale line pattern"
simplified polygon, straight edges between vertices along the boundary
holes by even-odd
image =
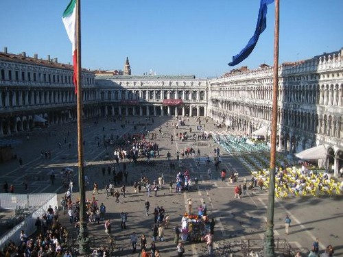
[[[147,121],[145,117],[127,118],[129,124],[122,127],[121,121],[106,121],[101,119],[98,124],[93,120],[84,122],[84,160],[86,161],[85,173],[89,180],[89,184],[97,182],[101,190],[99,194],[94,195],[98,203],[106,205],[106,219],[110,219],[115,235],[116,243],[114,247],[115,256],[139,256],[132,254],[130,246],[130,234],[136,232],[139,236],[146,234],[148,236],[148,245],[151,242],[151,229],[154,224],[152,213],[145,216],[144,201],[149,199],[150,210],[155,206],[163,206],[166,213],[171,217],[171,225],[165,230],[165,241],[156,243],[157,249],[160,250],[161,256],[176,256],[176,245],[173,243],[174,231],[171,229],[175,225],[180,224],[182,215],[187,212],[187,199],[193,199],[193,206],[200,205],[203,201],[208,206],[210,218],[214,218],[215,225],[215,252],[217,256],[228,256],[233,253],[241,255],[241,240],[263,238],[266,221],[266,210],[268,206],[268,192],[252,191],[246,197],[235,199],[233,197],[233,188],[235,184],[231,184],[228,180],[222,182],[220,172],[215,171],[214,165],[210,167],[213,176],[210,179],[207,175],[206,163],[203,159],[198,161],[197,158],[185,158],[180,162],[180,169],[188,169],[191,177],[197,177],[199,183],[191,186],[191,190],[185,193],[176,194],[169,193],[167,183],[170,180],[175,180],[176,171],[169,169],[169,160],[167,160],[167,151],[171,152],[171,161],[176,164],[178,169],[179,164],[176,162],[176,151],[185,149],[185,147],[193,147],[200,153],[202,157],[213,156],[213,142],[201,140],[194,143],[193,141],[174,140],[171,144],[170,135],[175,136],[176,133],[189,132],[191,127],[192,133],[196,130],[196,121],[191,118],[186,119],[186,126],[178,127],[178,130],[171,127],[171,123],[175,122],[175,118],[171,117],[154,117],[154,123]],[[134,124],[133,124],[134,122]],[[169,124],[166,126],[166,124]],[[208,123],[202,118],[202,124],[206,125],[206,130],[223,130],[215,129],[213,121]],[[137,130],[134,130],[136,125]],[[163,136],[158,132],[158,127],[162,127]],[[113,197],[106,196],[104,185],[110,180],[107,174],[102,175],[102,167],[107,167],[108,164],[113,164],[111,161],[102,160],[103,156],[113,154],[111,147],[103,147],[97,145],[97,136],[102,138],[121,136],[126,133],[134,133],[143,130],[146,127],[150,132],[157,134],[157,139],[154,140],[159,144],[161,149],[160,158],[154,160],[154,165],[133,164],[127,161],[127,170],[129,173],[127,183],[126,198],[120,197],[119,203],[115,203]],[[68,135],[69,134],[69,135]],[[18,160],[12,160],[0,164],[1,183],[5,180],[9,184],[14,184],[15,193],[25,193],[23,182],[27,182],[28,193],[58,193],[58,199],[64,195],[67,188],[62,183],[62,178],[59,171],[65,167],[71,167],[77,173],[77,143],[76,143],[76,123],[67,123],[63,125],[53,125],[47,129],[36,130],[27,134],[13,136],[8,138],[18,140],[18,145],[14,145],[14,153],[18,158],[23,159],[23,167],[19,166]],[[61,143],[61,147],[59,144]],[[71,143],[71,149],[69,149]],[[51,158],[41,158],[41,151],[51,151]],[[220,168],[226,168],[230,171],[238,171],[239,182],[242,183],[244,178],[250,179],[248,171],[246,171],[234,156],[229,155],[221,149],[222,163]],[[123,164],[119,164],[121,169]],[[49,172],[54,169],[56,180],[54,185],[49,180]],[[118,170],[118,169],[117,169]],[[158,191],[157,197],[147,197],[144,193],[134,193],[132,182],[137,180],[142,174],[146,175],[150,180],[156,180],[159,175],[165,176],[166,184]],[[78,197],[78,179],[74,179],[73,199]],[[86,198],[91,199],[92,189],[90,185],[86,185]],[[121,185],[120,185],[121,186]],[[118,185],[117,188],[120,188]],[[342,245],[342,198],[335,199],[327,198],[288,198],[275,201],[274,208],[274,236],[275,238],[285,238],[296,248],[310,248],[316,237],[320,238],[320,247],[323,249],[327,245],[333,245],[335,255],[343,254]],[[127,228],[120,228],[120,212],[128,212]],[[292,219],[290,233],[285,234],[284,218],[289,215]],[[73,232],[74,228],[69,224],[67,215],[60,213],[60,221],[67,226],[69,231]],[[98,224],[88,224],[89,234],[91,236],[91,247],[108,246],[106,234],[104,231],[104,221]],[[262,242],[262,241],[257,241]],[[204,243],[185,242],[184,256],[202,256],[206,254],[206,245]],[[306,251],[306,249],[304,250]]]

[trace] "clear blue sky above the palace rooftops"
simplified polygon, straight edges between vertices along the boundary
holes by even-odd
[[[82,67],[132,74],[220,77],[273,65],[275,4],[255,50],[228,66],[255,32],[259,0],[82,0]],[[1,0],[0,51],[71,63],[62,23],[69,0]],[[343,47],[343,0],[280,0],[279,63]]]

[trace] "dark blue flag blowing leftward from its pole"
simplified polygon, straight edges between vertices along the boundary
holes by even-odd
[[[248,45],[241,50],[236,56],[233,56],[233,61],[230,62],[229,66],[235,66],[246,59],[252,50],[254,50],[255,45],[257,44],[257,40],[259,40],[259,35],[264,31],[265,27],[267,27],[267,19],[265,16],[267,15],[267,5],[274,2],[274,0],[261,0],[259,6],[259,18],[257,19],[255,34],[250,38]]]

